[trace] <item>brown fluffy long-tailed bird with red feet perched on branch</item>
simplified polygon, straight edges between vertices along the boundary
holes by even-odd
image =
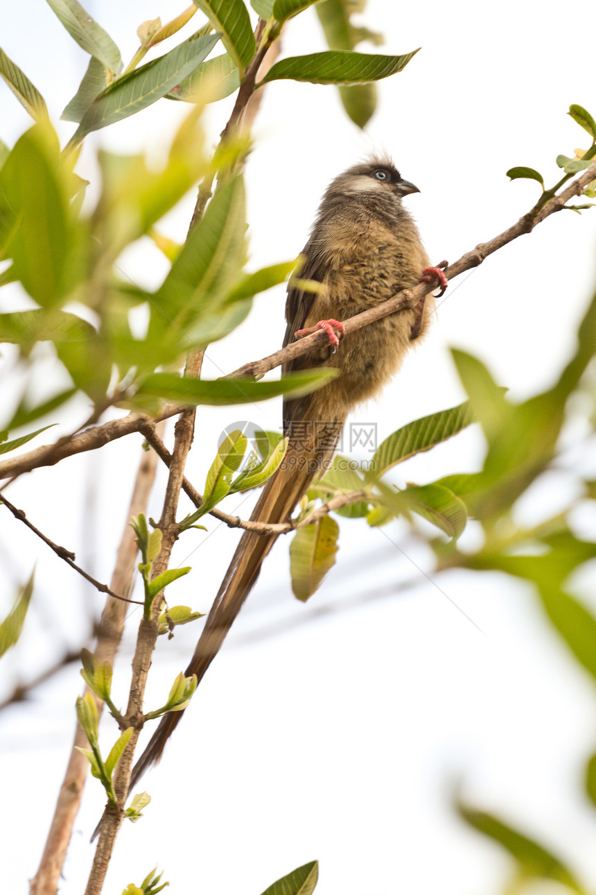
[[[436,279],[444,291],[447,280],[433,268],[416,223],[403,199],[420,192],[405,180],[390,158],[376,156],[335,177],[323,194],[310,238],[302,251],[300,279],[288,286],[286,334],[283,345],[296,337],[323,330],[328,341],[286,363],[283,372],[313,366],[339,371],[334,379],[306,396],[290,397],[283,405],[288,448],[283,462],[265,483],[251,520],[282,523],[290,516],[315,476],[328,463],[353,407],[377,395],[398,371],[409,347],[428,329],[432,294],[415,307],[343,336],[341,318],[384,302],[402,289]],[[321,286],[308,290],[309,280]],[[219,652],[259,574],[277,535],[245,531],[207,616],[206,625],[185,676],[206,673]],[[183,712],[169,712],[160,721],[130,780],[161,758],[167,739]]]

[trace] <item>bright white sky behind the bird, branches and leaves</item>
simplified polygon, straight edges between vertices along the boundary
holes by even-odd
[[[168,21],[183,6],[170,0],[87,4],[125,61],[137,47],[141,21],[156,15]],[[533,166],[554,183],[558,153],[573,155],[575,147],[588,145],[587,134],[565,113],[575,102],[596,114],[592,47],[582,39],[590,13],[588,2],[574,4],[571,21],[555,4],[538,12],[536,4],[508,0],[492,7],[370,0],[364,21],[386,37],[376,52],[423,49],[405,72],[379,83],[379,107],[364,135],[350,124],[332,87],[280,81],[267,88],[247,166],[252,267],[295,257],[326,184],[373,148],[389,150],[420,187],[420,195],[406,201],[433,260],[456,260],[513,223],[539,187],[509,183],[508,168]],[[0,45],[57,119],[87,56],[43,0],[11,4],[2,19]],[[192,26],[199,20],[197,13]],[[285,55],[323,48],[314,11],[290,23]],[[97,143],[113,151],[163,147],[187,108],[161,100],[90,135],[80,173],[95,177],[90,148]],[[230,109],[231,99],[210,109],[213,141]],[[28,125],[0,84],[0,137],[13,145]],[[63,140],[71,130],[60,124]],[[161,229],[182,239],[193,202],[189,196]],[[561,213],[460,277],[449,286],[424,345],[382,399],[354,419],[376,422],[381,440],[399,425],[461,401],[449,345],[480,356],[516,398],[547,388],[573,348],[592,294],[595,241],[596,214]],[[154,288],[164,274],[148,241],[121,263],[141,286]],[[21,297],[15,291],[10,301],[3,311],[19,306]],[[258,298],[246,324],[209,348],[205,375],[273,351],[285,327],[283,305],[283,290]],[[0,371],[10,384],[10,355]],[[46,377],[38,385],[40,396],[55,388]],[[281,402],[273,401],[258,408],[199,408],[189,479],[200,489],[223,426],[252,419],[278,428],[280,412]],[[73,408],[64,430],[83,414],[84,407]],[[94,456],[72,457],[21,477],[10,491],[35,524],[76,550],[103,581],[111,575],[140,441],[122,439]],[[401,467],[396,481],[429,482],[474,470],[482,449],[478,432],[468,430]],[[163,471],[158,496],[160,484]],[[527,502],[527,519],[554,512],[573,479],[553,474],[549,485]],[[247,501],[240,515],[248,516],[248,507]],[[234,511],[233,503],[223,508]],[[158,516],[158,499],[150,514]],[[18,669],[34,675],[64,644],[78,644],[88,605],[98,612],[101,598],[7,514],[0,524],[3,615],[16,583],[37,562],[25,635],[3,663],[0,685],[8,690]],[[583,516],[581,524],[584,536],[593,537],[593,516]],[[201,610],[213,599],[238,536],[214,520],[208,527],[208,540],[193,532],[177,545],[174,563],[192,565],[193,572],[170,593],[171,601]],[[472,524],[465,537],[472,543]],[[428,580],[418,567],[430,568],[430,558],[399,524],[371,531],[364,522],[342,521],[338,563],[302,606],[290,593],[287,543],[278,544],[177,729],[167,762],[142,781],[153,802],[142,821],[122,829],[105,892],[139,883],[157,865],[172,892],[258,895],[316,857],[321,895],[490,895],[500,890],[508,860],[455,818],[449,806],[455,780],[470,800],[537,836],[596,884],[596,815],[581,780],[596,740],[590,682],[568,660],[529,587],[500,575],[449,573]],[[415,586],[391,593],[404,581]],[[319,617],[331,607],[334,612]],[[131,616],[114,675],[117,704],[125,701],[139,618]],[[198,627],[189,626],[159,644],[151,706],[163,703],[197,634]],[[11,820],[3,834],[10,859],[3,862],[2,888],[11,895],[27,891],[37,868],[80,689],[73,664],[28,703],[0,716],[5,823]],[[107,750],[116,736],[111,719],[102,731]],[[99,784],[91,780],[61,895],[84,889],[93,855],[88,837],[102,804]]]

